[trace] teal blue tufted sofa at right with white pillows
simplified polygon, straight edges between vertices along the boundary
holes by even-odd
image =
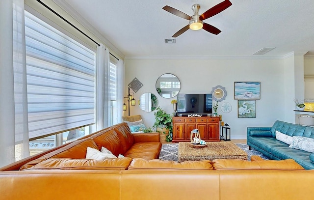
[[[247,144],[249,148],[262,152],[272,160],[292,158],[304,169],[314,169],[314,153],[289,147],[289,144],[276,140],[275,132],[288,136],[314,138],[314,127],[275,121],[272,127],[247,127]]]

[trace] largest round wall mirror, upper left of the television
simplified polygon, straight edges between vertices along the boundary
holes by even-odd
[[[177,96],[181,88],[179,79],[173,74],[163,74],[156,81],[157,93],[163,98]]]

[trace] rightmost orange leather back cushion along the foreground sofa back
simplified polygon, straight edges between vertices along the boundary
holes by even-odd
[[[214,159],[214,170],[304,170],[293,159],[246,161],[238,159]]]

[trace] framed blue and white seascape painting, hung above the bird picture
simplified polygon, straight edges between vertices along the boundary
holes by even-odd
[[[261,82],[235,82],[235,99],[261,99]]]

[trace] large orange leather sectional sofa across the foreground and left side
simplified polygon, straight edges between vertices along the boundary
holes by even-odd
[[[85,159],[105,146],[125,158]],[[158,160],[157,133],[121,123],[0,169],[0,200],[310,200],[314,170],[294,160]]]

